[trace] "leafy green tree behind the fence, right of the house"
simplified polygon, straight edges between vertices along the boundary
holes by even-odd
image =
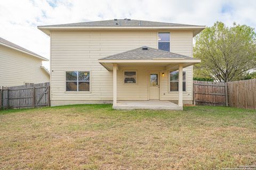
[[[227,27],[215,22],[196,37],[194,57],[201,59],[195,65],[195,77],[239,80],[256,69],[256,33],[247,25]]]

